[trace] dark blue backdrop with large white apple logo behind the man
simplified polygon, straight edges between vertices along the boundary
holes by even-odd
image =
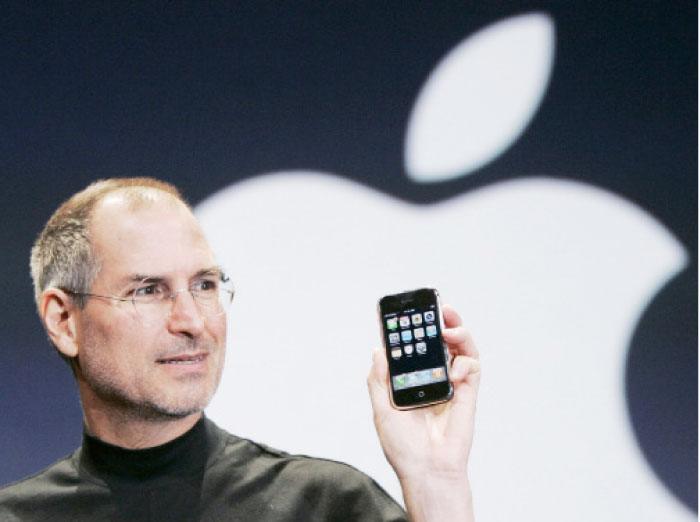
[[[484,359],[479,516],[692,519],[696,21],[692,3],[10,4],[0,483],[80,440],[31,243],[89,182],[152,175],[237,283],[209,409],[229,430],[398,495],[364,390],[374,307],[434,284]]]

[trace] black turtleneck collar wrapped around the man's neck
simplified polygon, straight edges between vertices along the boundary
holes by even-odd
[[[143,484],[202,472],[223,445],[223,433],[204,416],[178,438],[147,449],[122,448],[84,432],[78,466],[99,481]]]

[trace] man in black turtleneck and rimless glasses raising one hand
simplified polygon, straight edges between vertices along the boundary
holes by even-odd
[[[84,413],[73,454],[0,491],[0,520],[405,520],[370,478],[226,433],[202,411],[221,376],[233,295],[190,207],[150,178],[100,181],[32,249],[39,316]],[[467,460],[476,348],[444,307],[454,398],[394,410],[387,364],[368,386],[411,520],[472,520]]]

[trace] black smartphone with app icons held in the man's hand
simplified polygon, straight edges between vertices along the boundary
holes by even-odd
[[[449,352],[442,339],[437,290],[420,288],[382,297],[379,320],[394,407],[405,410],[450,400]]]

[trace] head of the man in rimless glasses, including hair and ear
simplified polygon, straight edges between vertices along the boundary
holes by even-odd
[[[177,189],[148,178],[91,185],[51,217],[31,265],[39,315],[72,363],[84,408],[141,418],[204,408],[223,367],[226,317],[181,291],[216,284],[219,270]],[[134,306],[136,292],[154,289],[174,297]]]

